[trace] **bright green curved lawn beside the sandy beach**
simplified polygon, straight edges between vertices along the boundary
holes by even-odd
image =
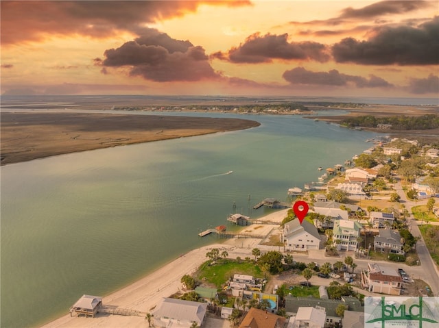
[[[259,266],[252,262],[237,262],[236,260],[222,259],[217,260],[215,264],[209,266],[210,263],[211,261],[207,261],[200,266],[197,279],[213,283],[216,288],[221,288],[224,283],[235,274],[252,275],[257,278],[263,277]]]

